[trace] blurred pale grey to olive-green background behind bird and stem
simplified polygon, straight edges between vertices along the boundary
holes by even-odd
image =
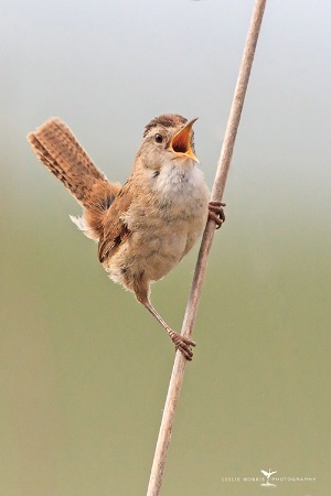
[[[212,185],[253,1],[1,0],[0,494],[146,494],[173,363],[25,136],[60,116],[124,182],[143,126],[199,117]],[[331,7],[269,1],[162,495],[327,495]],[[196,249],[152,301],[180,328]],[[236,477],[239,481],[226,479]],[[329,490],[328,490],[329,489]]]

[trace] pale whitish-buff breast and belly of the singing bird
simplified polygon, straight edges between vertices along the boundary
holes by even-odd
[[[113,280],[129,285],[128,276],[145,273],[150,281],[163,278],[201,236],[210,193],[200,170],[162,171],[149,194],[135,197],[124,222],[130,237],[107,263]]]

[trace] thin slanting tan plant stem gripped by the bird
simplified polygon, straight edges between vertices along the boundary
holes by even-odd
[[[214,201],[221,201],[223,197],[265,6],[266,0],[256,0],[254,4],[250,25],[244,47],[244,55],[239,67],[237,84],[234,91],[232,107],[227,120],[225,137],[221,150],[220,160],[217,163],[217,171],[212,191],[212,200]],[[205,276],[207,258],[214,238],[214,231],[215,231],[215,224],[213,220],[209,220],[203,234],[199,257],[195,266],[193,282],[184,315],[184,321],[182,325],[182,334],[188,337],[191,337],[192,335],[192,330],[197,312],[203,280]],[[183,357],[183,355],[180,352],[177,352],[169,382],[169,389],[161,420],[154,459],[151,467],[147,496],[158,496],[160,494],[168,446],[171,438],[172,425],[180,396],[180,390],[183,382],[185,364],[186,360]]]

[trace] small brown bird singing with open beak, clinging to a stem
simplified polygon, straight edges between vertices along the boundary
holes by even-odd
[[[132,291],[191,360],[195,343],[172,331],[150,302],[150,284],[162,279],[202,235],[207,216],[220,227],[225,216],[197,169],[193,123],[162,115],[145,128],[131,174],[124,186],[94,165],[67,126],[49,119],[28,134],[41,162],[83,206],[71,217],[98,241],[98,259],[110,279]]]

